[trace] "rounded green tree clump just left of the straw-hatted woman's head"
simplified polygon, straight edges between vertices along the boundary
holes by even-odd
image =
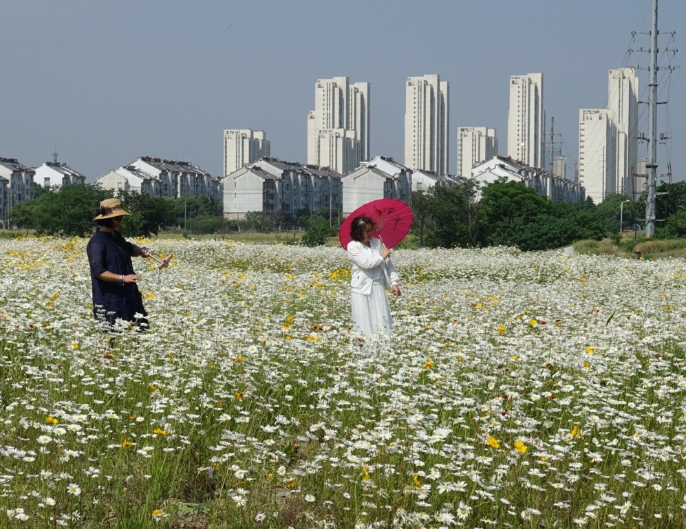
[[[49,189],[34,201],[36,234],[83,237],[94,230],[93,212],[111,193],[86,184]]]

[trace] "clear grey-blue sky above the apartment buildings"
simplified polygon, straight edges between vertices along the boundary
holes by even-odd
[[[224,129],[266,132],[275,158],[307,162],[317,79],[369,82],[372,156],[404,162],[405,81],[450,83],[458,127],[507,151],[510,76],[542,72],[546,133],[573,171],[579,109],[605,108],[608,70],[639,66],[647,101],[651,0],[3,0],[0,156],[58,160],[87,182],[138,156],[221,176]],[[678,66],[686,2],[660,0],[660,65]],[[680,41],[682,41],[680,45]],[[658,76],[658,174],[686,180],[685,83]],[[647,136],[647,105],[639,130]],[[645,156],[645,143],[639,145]]]

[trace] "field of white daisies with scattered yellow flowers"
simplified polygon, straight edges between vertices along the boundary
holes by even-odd
[[[340,248],[138,241],[150,328],[85,239],[0,240],[0,528],[680,528],[686,269],[397,250],[360,340]]]

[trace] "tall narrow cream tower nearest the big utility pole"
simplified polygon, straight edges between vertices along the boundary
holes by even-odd
[[[639,78],[634,68],[611,69],[608,75],[608,109],[617,127],[615,188],[630,197],[636,193],[632,170],[639,158]]]

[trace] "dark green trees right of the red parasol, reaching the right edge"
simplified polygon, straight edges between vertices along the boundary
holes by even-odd
[[[686,237],[686,182],[660,184],[656,239]],[[477,195],[479,199],[477,200]],[[624,201],[623,207],[621,203]],[[546,250],[582,239],[619,238],[624,228],[643,226],[645,202],[612,194],[601,204],[552,202],[520,182],[500,180],[478,188],[465,182],[413,193],[414,235],[420,246],[517,246]]]

